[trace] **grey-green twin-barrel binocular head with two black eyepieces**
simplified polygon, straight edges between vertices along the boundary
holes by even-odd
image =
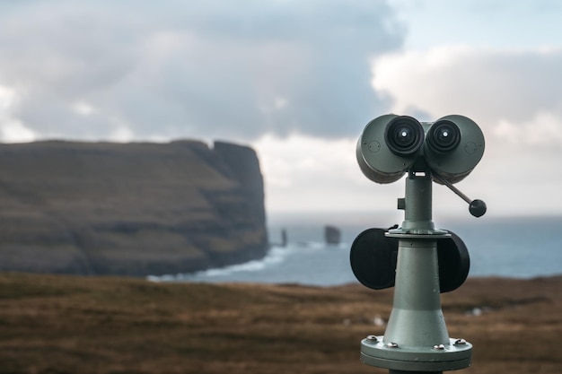
[[[484,135],[469,117],[451,115],[435,122],[388,114],[364,127],[356,157],[365,177],[391,183],[408,170],[431,171],[453,184],[467,177],[484,154]],[[441,183],[438,178],[434,181]]]

